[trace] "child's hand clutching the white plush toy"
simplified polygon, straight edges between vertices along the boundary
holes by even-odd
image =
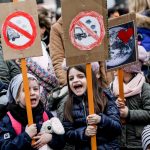
[[[52,140],[52,134],[49,134],[49,133],[38,134],[33,139],[37,140],[32,145],[33,148],[39,149]]]

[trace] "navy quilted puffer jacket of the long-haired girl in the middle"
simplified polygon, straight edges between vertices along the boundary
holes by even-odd
[[[98,150],[118,150],[118,136],[121,135],[121,122],[119,110],[115,104],[115,100],[109,90],[105,90],[108,97],[108,103],[104,113],[100,113],[101,121],[97,125],[97,149]],[[66,142],[75,145],[76,150],[90,150],[90,138],[85,135],[87,127],[86,116],[88,115],[88,107],[84,105],[81,99],[73,100],[72,110],[73,120],[63,121],[65,127]]]

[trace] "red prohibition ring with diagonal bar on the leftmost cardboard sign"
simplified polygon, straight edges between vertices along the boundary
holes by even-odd
[[[32,34],[24,31],[20,27],[17,27],[17,25],[14,25],[13,23],[11,23],[10,20],[12,18],[20,17],[20,16],[26,18],[29,21],[31,28],[32,28]],[[14,28],[15,30],[17,30],[18,32],[21,32],[24,36],[29,37],[29,41],[27,43],[25,43],[24,45],[21,45],[21,46],[16,45],[14,43],[10,43],[10,41],[7,37],[7,27],[10,27],[10,26],[11,26],[11,28]],[[3,37],[4,37],[5,42],[9,47],[16,49],[16,50],[24,50],[24,49],[30,47],[35,41],[35,38],[37,36],[36,23],[35,23],[33,17],[30,16],[28,13],[23,12],[23,11],[17,11],[17,12],[12,13],[11,15],[9,15],[6,18],[6,20],[3,24],[3,27],[2,27],[2,33],[3,33]]]

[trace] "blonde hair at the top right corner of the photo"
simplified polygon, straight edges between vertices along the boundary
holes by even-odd
[[[129,12],[142,12],[150,8],[150,0],[128,0]]]

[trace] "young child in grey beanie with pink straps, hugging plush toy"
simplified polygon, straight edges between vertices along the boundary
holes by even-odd
[[[45,144],[52,149],[61,149],[64,145],[63,135],[40,133],[40,128],[45,120],[43,114],[46,113],[48,119],[53,116],[44,111],[37,79],[28,74],[28,80],[34,124],[28,126],[23,79],[22,74],[19,74],[12,79],[8,88],[8,113],[0,122],[0,149],[34,150]],[[21,126],[20,132],[16,129],[18,123]],[[36,140],[33,145],[31,144],[32,139]]]

